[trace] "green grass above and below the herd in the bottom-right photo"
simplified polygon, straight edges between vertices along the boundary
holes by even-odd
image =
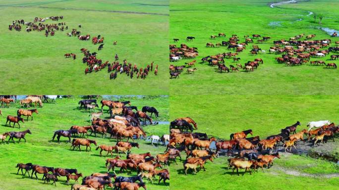
[[[300,121],[298,131],[306,128],[310,121],[330,120],[338,123],[338,96],[326,95],[189,95],[170,96],[170,121],[178,117],[191,117],[198,126],[195,132],[207,133],[210,137],[229,140],[231,133],[247,129],[253,130],[253,136],[261,139],[280,133],[280,129]],[[328,142],[338,155],[336,143]],[[298,147],[298,146],[297,146]],[[325,148],[319,146],[317,148]],[[338,187],[339,166],[336,163],[315,159],[305,155],[283,153],[281,159],[275,159],[270,169],[264,169],[253,175],[231,176],[227,170],[226,156],[219,156],[213,163],[206,164],[206,172],[196,175],[183,173],[181,162],[170,165],[173,190],[199,188],[201,190],[276,190],[324,189]],[[182,153],[184,158],[186,155]],[[242,175],[243,170],[240,170]]]

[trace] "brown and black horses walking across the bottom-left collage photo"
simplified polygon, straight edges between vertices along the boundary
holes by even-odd
[[[29,97],[39,97],[39,96],[29,96]],[[48,97],[48,95],[44,95],[42,97]],[[59,96],[61,98],[61,96]],[[40,97],[39,97],[40,98]],[[140,126],[140,122],[144,122],[146,124],[146,119],[152,124],[152,116],[159,117],[159,112],[155,107],[152,106],[144,106],[142,107],[142,111],[139,110],[136,106],[132,106],[130,101],[112,101],[112,100],[101,100],[101,109],[105,106],[109,107],[108,112],[114,112],[113,110],[121,109],[120,113],[114,113],[111,119],[101,119],[100,116],[103,115],[102,111],[101,114],[96,115],[97,113],[91,113],[90,116],[92,117],[92,125],[91,126],[72,126],[69,130],[56,130],[54,132],[53,140],[57,138],[57,142],[60,142],[60,137],[68,138],[68,142],[71,142],[71,147],[73,150],[75,148],[81,151],[81,146],[86,146],[86,151],[89,147],[89,151],[91,151],[90,144],[95,144],[96,150],[100,150],[100,156],[103,156],[103,152],[107,152],[106,156],[111,154],[112,158],[106,159],[106,167],[107,173],[93,173],[90,176],[83,177],[82,173],[78,173],[77,169],[65,169],[65,168],[55,168],[55,167],[48,167],[48,166],[41,166],[32,163],[18,163],[16,165],[17,174],[21,170],[22,175],[26,175],[33,179],[33,176],[38,179],[37,174],[43,174],[42,180],[44,183],[52,183],[56,186],[56,182],[58,178],[65,177],[67,185],[69,184],[70,180],[74,180],[78,182],[79,178],[82,179],[81,185],[74,184],[72,189],[74,190],[98,190],[103,189],[105,187],[114,188],[114,190],[137,190],[139,188],[144,188],[146,190],[146,184],[143,182],[143,178],[147,178],[148,181],[151,181],[153,184],[153,180],[156,176],[159,176],[158,184],[162,181],[166,184],[166,181],[169,180],[169,170],[163,169],[162,164],[168,163],[169,155],[168,154],[157,154],[152,156],[150,152],[142,153],[142,154],[135,154],[132,153],[133,148],[140,148],[140,144],[138,142],[134,142],[134,139],[139,139],[140,136],[146,138],[146,133],[143,128]],[[92,104],[97,104],[96,99],[82,99],[79,101],[79,109],[87,108]],[[129,105],[129,106],[127,106]],[[132,110],[136,110],[133,112]],[[150,116],[146,114],[146,112],[151,113]],[[24,122],[23,118],[20,118],[22,115],[32,116],[32,113],[37,113],[38,110],[17,110],[18,116],[7,117],[9,118],[10,122],[17,123],[18,120]],[[98,116],[97,118],[93,118],[93,116]],[[32,117],[33,120],[33,117]],[[28,117],[27,117],[28,121]],[[91,134],[88,132],[91,131]],[[115,137],[117,139],[115,145],[108,145],[108,144],[97,144],[95,140],[83,139],[84,135],[91,136],[92,133],[103,133],[103,135],[109,132],[111,137]],[[29,133],[32,134],[30,130],[25,130],[23,132],[6,132],[3,135],[0,135],[0,139],[4,141],[7,136],[9,136],[9,140],[13,140],[13,138],[25,140],[25,135]],[[102,135],[102,137],[103,137]],[[106,134],[105,134],[106,135]],[[71,140],[71,137],[74,137]],[[150,136],[153,141],[158,141],[158,136]],[[127,140],[124,142],[122,141],[123,138]],[[129,139],[132,139],[133,142],[128,142]],[[164,135],[161,138],[164,141],[169,141],[169,135]],[[13,140],[14,142],[14,140]],[[26,142],[26,140],[25,140]],[[126,159],[122,159],[119,153],[126,154]],[[117,155],[113,158],[113,153]],[[136,176],[131,177],[123,177],[117,176],[115,172],[115,168],[120,168],[119,173],[123,171],[127,171],[127,174],[131,172],[131,170],[135,170],[137,172]],[[160,168],[160,169],[158,169]],[[25,172],[23,172],[25,170]],[[113,173],[110,173],[110,170]],[[31,173],[31,175],[30,175]]]

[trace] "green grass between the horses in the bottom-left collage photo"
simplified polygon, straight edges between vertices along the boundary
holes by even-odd
[[[154,106],[159,111],[159,121],[168,121],[169,119],[169,99],[167,96],[144,96],[138,97],[122,97],[121,100],[130,100],[132,105],[141,108],[144,105]],[[5,127],[7,115],[16,115],[18,103],[12,104],[10,108],[2,108],[2,116],[0,116],[0,133],[7,131],[23,131],[30,129],[32,135],[27,134],[27,142],[0,144],[0,190],[69,190],[70,186],[65,184],[66,179],[61,177],[55,186],[43,184],[41,181],[42,175],[38,181],[30,179],[22,175],[16,175],[16,163],[32,162],[33,164],[76,168],[84,176],[94,172],[105,172],[105,159],[100,157],[99,150],[95,150],[95,145],[92,144],[92,151],[71,151],[69,150],[70,143],[66,143],[65,138],[60,139],[60,144],[52,141],[54,131],[58,129],[69,129],[72,125],[87,126],[89,125],[88,112],[79,111],[78,97],[56,99],[55,103],[45,103],[43,108],[38,108],[39,114],[34,115],[33,121],[28,121],[21,125],[21,129]],[[99,99],[100,101],[100,99]],[[99,111],[97,109],[96,111]],[[104,109],[104,117],[108,117]],[[163,135],[168,134],[168,125],[148,125],[144,126],[144,130],[148,135]],[[94,135],[89,139],[95,139],[99,144],[115,144],[115,139],[95,138]],[[7,139],[8,140],[8,139]],[[151,152],[152,155],[164,152],[163,146],[152,146],[150,142],[138,140],[140,149],[132,149],[132,153]],[[115,155],[115,154],[114,154]],[[126,175],[123,173],[121,175]],[[136,175],[132,172],[131,175]],[[146,180],[147,181],[147,180]],[[81,182],[80,182],[81,183]],[[73,184],[73,182],[72,182]],[[161,183],[160,185],[147,184],[147,189],[150,190],[168,190],[169,184]]]

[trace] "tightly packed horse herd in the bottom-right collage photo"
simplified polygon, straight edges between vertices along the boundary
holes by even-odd
[[[193,170],[194,174],[197,173],[198,166],[200,170],[204,169],[205,171],[206,161],[213,162],[215,158],[219,157],[220,153],[234,156],[227,159],[227,168],[232,168],[232,174],[236,170],[239,175],[238,170],[245,169],[244,175],[246,171],[252,174],[253,170],[256,171],[259,168],[263,172],[264,167],[271,168],[273,160],[280,158],[278,146],[282,146],[285,152],[291,152],[292,148],[296,149],[296,142],[302,141],[305,143],[306,138],[304,136],[308,136],[307,141],[313,141],[313,145],[317,146],[319,143],[323,144],[330,139],[335,141],[334,134],[339,133],[339,127],[328,120],[309,122],[307,124],[308,130],[303,129],[299,132],[297,132],[298,126],[301,126],[299,121],[281,129],[279,134],[269,136],[266,139],[260,139],[259,136],[248,137],[248,135],[253,136],[254,134],[249,129],[230,134],[230,140],[217,141],[214,137],[208,138],[206,133],[193,133],[193,130],[197,129],[197,124],[191,118],[178,118],[170,124],[170,140],[167,149],[177,152],[180,161],[182,161],[180,152],[185,152],[186,159],[183,161],[183,173],[186,175],[189,169]],[[316,129],[312,130],[313,128]],[[191,132],[187,132],[188,130]],[[212,151],[211,147],[214,146],[216,150]]]

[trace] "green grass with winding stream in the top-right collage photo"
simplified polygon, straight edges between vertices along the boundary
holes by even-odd
[[[339,13],[337,8],[339,1],[311,0],[307,2],[283,4],[276,8],[269,6],[272,0],[203,0],[197,3],[194,0],[171,0],[170,1],[170,41],[180,47],[184,43],[189,47],[197,47],[199,56],[195,59],[200,62],[202,57],[229,52],[226,47],[206,47],[206,43],[221,43],[228,41],[232,34],[239,36],[240,42],[244,42],[244,35],[259,34],[270,36],[273,39],[263,44],[249,44],[238,57],[244,65],[254,58],[262,58],[264,64],[254,72],[220,73],[216,67],[208,66],[207,63],[195,64],[198,69],[195,74],[181,74],[180,79],[170,80],[170,92],[172,94],[215,94],[215,95],[335,95],[338,94],[338,70],[324,69],[324,66],[286,67],[278,64],[276,54],[251,55],[249,51],[252,45],[258,45],[263,50],[269,50],[274,46],[274,40],[285,39],[304,33],[316,34],[316,40],[331,39],[332,42],[339,38],[331,38],[330,35],[316,27],[337,29]],[[282,8],[279,8],[282,7]],[[322,25],[314,23],[312,15],[326,15]],[[296,21],[302,19],[301,21]],[[318,22],[318,19],[317,19]],[[211,35],[226,33],[225,37],[217,37],[211,40]],[[194,41],[187,42],[186,37],[193,36]],[[179,39],[173,43],[171,39]],[[335,44],[332,43],[332,46]],[[234,51],[232,51],[234,52]],[[331,53],[332,54],[332,53]],[[327,55],[325,62],[329,60]],[[178,62],[170,62],[174,65],[184,65],[194,59],[182,59]],[[316,58],[311,58],[316,60]],[[226,59],[226,65],[233,64],[233,60]],[[185,70],[186,71],[186,70]],[[330,82],[331,81],[331,82]],[[331,89],[331,90],[330,90]]]

